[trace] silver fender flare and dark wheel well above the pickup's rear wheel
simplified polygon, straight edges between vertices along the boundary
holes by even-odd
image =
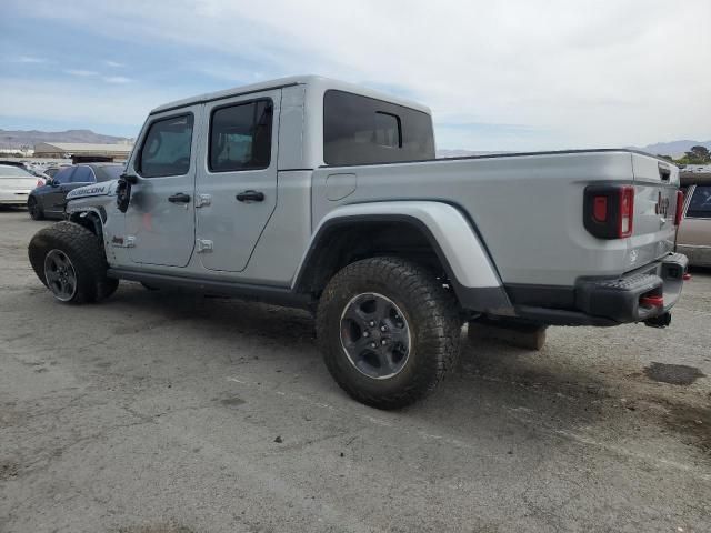
[[[318,294],[340,268],[393,252],[420,262],[437,261],[431,265],[445,274],[464,309],[502,314],[512,309],[474,228],[443,202],[378,202],[331,211],[314,231],[292,289]]]

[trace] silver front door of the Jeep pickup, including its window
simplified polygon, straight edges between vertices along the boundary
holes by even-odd
[[[192,105],[150,117],[143,128],[129,165],[138,183],[126,212],[134,263],[186,266],[190,261],[200,119],[201,105]]]

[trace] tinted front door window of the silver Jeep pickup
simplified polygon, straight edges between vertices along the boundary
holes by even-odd
[[[142,178],[184,175],[190,170],[193,115],[157,120],[150,125],[138,160]]]

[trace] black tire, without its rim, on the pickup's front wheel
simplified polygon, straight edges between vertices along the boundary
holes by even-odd
[[[44,259],[52,250],[63,252],[77,274],[77,290],[66,303],[97,302],[116,292],[119,280],[107,278],[109,265],[101,241],[87,228],[62,221],[34,234],[29,245],[30,263],[44,285]]]

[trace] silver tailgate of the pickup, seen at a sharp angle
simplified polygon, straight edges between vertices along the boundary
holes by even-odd
[[[677,228],[679,168],[670,162],[632,153],[634,222],[628,271],[673,251]]]

